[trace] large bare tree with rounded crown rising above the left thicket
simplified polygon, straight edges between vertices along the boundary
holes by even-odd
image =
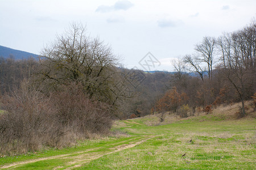
[[[71,24],[63,35],[42,50],[36,83],[43,92],[61,91],[63,84],[80,83],[90,99],[115,105],[123,86],[117,86],[118,57],[98,38],[86,36],[82,24]]]

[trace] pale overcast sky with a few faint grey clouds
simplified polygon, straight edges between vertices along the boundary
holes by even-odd
[[[123,67],[174,71],[171,59],[192,54],[204,36],[237,31],[253,18],[255,0],[0,0],[0,45],[40,54],[77,22],[110,45]]]

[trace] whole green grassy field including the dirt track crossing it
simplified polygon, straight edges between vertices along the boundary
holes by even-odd
[[[167,114],[161,124],[157,115],[115,121],[112,137],[1,155],[0,169],[256,169],[256,120],[238,119],[235,111],[236,105],[183,119]]]

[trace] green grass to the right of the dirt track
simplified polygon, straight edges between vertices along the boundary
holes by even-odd
[[[255,119],[208,120],[125,128],[133,134],[163,135],[79,169],[255,169]]]

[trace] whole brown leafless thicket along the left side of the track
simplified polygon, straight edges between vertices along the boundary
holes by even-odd
[[[76,84],[46,96],[23,83],[21,90],[2,99],[0,153],[21,154],[44,146],[63,147],[108,133],[110,108],[93,101]]]

